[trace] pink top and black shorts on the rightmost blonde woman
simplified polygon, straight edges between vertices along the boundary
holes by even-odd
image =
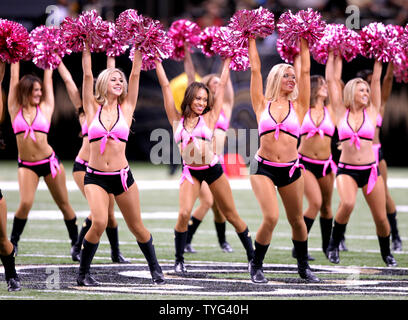
[[[348,109],[346,115],[339,124],[339,140],[350,140],[350,145],[354,145],[357,150],[360,149],[360,140],[372,141],[374,138],[375,127],[371,124],[368,118],[366,109],[363,111],[363,123],[357,132],[351,128],[348,122],[350,110]],[[368,184],[367,194],[370,193],[377,181],[377,177],[380,175],[377,162],[368,163],[365,165],[354,165],[344,162],[339,162],[337,175],[347,174],[351,176],[357,183],[359,188]]]

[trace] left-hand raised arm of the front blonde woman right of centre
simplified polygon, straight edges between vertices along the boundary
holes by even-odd
[[[255,113],[263,108],[265,97],[263,94],[263,83],[261,74],[261,60],[259,59],[255,39],[249,39],[249,62],[251,65],[251,102]]]

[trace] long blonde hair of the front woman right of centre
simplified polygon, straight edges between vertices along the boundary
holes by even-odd
[[[282,78],[287,69],[292,69],[295,71],[295,68],[287,63],[279,63],[273,66],[271,71],[269,71],[268,78],[266,79],[265,99],[270,101],[276,101],[278,99]],[[296,83],[293,91],[288,95],[288,99],[291,101],[295,100],[298,93],[299,89]]]

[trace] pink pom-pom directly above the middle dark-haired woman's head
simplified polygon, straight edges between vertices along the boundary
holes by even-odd
[[[173,40],[174,51],[171,56],[172,59],[180,61],[184,59],[184,43],[188,44],[188,49],[192,52],[191,47],[197,47],[200,43],[200,27],[189,20],[180,19],[174,21],[167,35]]]

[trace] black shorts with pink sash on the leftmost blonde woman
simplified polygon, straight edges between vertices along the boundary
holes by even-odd
[[[126,186],[122,183],[122,178],[119,174],[120,170],[115,171],[115,174],[112,175],[102,175],[98,174],[98,172],[103,173],[104,171],[99,171],[88,166],[84,178],[84,185],[96,184],[103,188],[107,193],[112,193],[113,195],[118,196],[125,192],[135,182],[130,168],[127,171]]]

